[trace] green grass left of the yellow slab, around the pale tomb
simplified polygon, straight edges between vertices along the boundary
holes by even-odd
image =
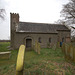
[[[0,42],[0,52],[10,51],[8,46],[10,46],[10,42]],[[10,59],[0,59],[0,75],[10,75],[10,71],[15,71],[17,53],[17,50],[12,50]]]

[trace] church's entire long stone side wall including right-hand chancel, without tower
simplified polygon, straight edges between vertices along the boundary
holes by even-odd
[[[59,36],[59,38],[58,38]],[[53,46],[58,42],[62,41],[62,38],[64,37],[64,42],[66,42],[66,37],[70,37],[69,31],[59,31],[58,34],[32,34],[32,33],[15,33],[14,35],[14,48],[19,48],[21,44],[26,45],[26,39],[32,39],[32,48],[34,47],[34,44],[36,41],[38,41],[38,38],[41,37],[41,48],[47,48],[47,45],[49,43],[49,38],[51,38],[50,45]]]

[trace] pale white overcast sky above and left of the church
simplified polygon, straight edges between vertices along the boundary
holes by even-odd
[[[20,21],[54,23],[60,19],[60,11],[68,0],[0,0],[5,8],[5,20],[0,20],[0,39],[10,38],[10,12],[19,13]]]

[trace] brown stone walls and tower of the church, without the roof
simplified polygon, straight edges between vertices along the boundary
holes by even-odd
[[[47,33],[47,32],[33,32],[33,31],[18,31],[19,28],[19,14],[11,13],[10,14],[10,29],[11,29],[11,47],[14,49],[18,49],[21,44],[26,45],[26,47],[34,47],[36,41],[38,41],[39,37],[41,37],[41,47],[47,48],[47,44],[50,43],[52,46],[57,42],[70,42],[70,30],[68,28],[63,30],[57,30],[54,33]],[[31,24],[31,23],[28,23]],[[35,23],[35,25],[38,23]],[[38,26],[38,25],[37,25]],[[28,27],[27,27],[28,28]],[[51,38],[51,42],[49,42],[49,38]],[[30,45],[27,45],[31,43]]]

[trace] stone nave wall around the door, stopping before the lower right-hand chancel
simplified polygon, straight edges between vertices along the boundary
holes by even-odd
[[[21,44],[26,45],[26,39],[32,39],[32,47],[38,38],[41,37],[41,47],[47,48],[49,38],[51,38],[51,45],[57,43],[57,34],[27,34],[27,33],[16,33],[14,39],[14,48],[18,48]]]

